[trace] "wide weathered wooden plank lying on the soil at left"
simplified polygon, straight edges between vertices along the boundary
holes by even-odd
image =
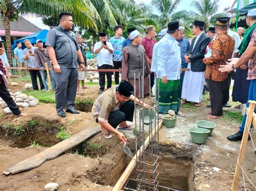
[[[90,137],[92,137],[93,135],[96,135],[99,132],[100,130],[98,128],[95,128],[95,129],[89,128],[84,131],[81,131],[76,135],[66,140],[63,140],[60,143],[53,145],[52,147],[47,148],[46,150],[19,162],[18,164],[8,168],[3,173],[5,175],[17,174],[19,172],[28,171],[30,169],[37,168],[41,166],[44,162],[57,158],[63,152],[69,150],[74,146],[77,146],[78,144],[84,142],[86,139],[89,139]]]

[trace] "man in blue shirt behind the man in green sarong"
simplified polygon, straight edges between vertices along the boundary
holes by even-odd
[[[177,41],[179,43],[180,53],[181,53],[181,68],[187,68],[187,62],[186,62],[184,56],[187,53],[187,51],[189,51],[189,49],[190,49],[190,41],[184,37],[185,36],[185,27],[180,26],[179,30],[180,30],[180,33],[177,38]],[[181,72],[181,74],[180,74],[181,87],[183,84],[184,74],[185,74],[185,71]]]

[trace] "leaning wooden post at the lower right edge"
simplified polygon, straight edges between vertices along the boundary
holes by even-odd
[[[242,162],[244,161],[245,149],[246,149],[246,145],[248,142],[248,136],[249,136],[249,130],[248,130],[247,126],[249,128],[251,128],[252,117],[253,117],[253,112],[254,112],[256,101],[250,100],[249,103],[250,103],[250,105],[247,110],[244,135],[242,136],[242,142],[241,142],[240,151],[239,151],[239,155],[238,155],[238,159],[237,159],[237,166],[235,166],[235,174],[234,174],[233,184],[232,184],[232,188],[231,188],[232,191],[238,190],[237,188],[238,188],[239,176],[241,174],[240,166],[242,167]]]

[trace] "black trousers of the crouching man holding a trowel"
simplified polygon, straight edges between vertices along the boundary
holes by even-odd
[[[109,114],[108,122],[113,127],[116,128],[121,122],[124,121],[133,121],[134,113],[134,102],[127,101],[125,102],[118,111],[112,111]],[[98,123],[98,119],[96,119]]]

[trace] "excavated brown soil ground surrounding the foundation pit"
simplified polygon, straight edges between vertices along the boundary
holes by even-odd
[[[20,82],[21,86],[11,87],[11,91],[22,90],[25,83]],[[77,91],[79,100],[97,98],[98,86],[89,87]],[[236,132],[238,125],[219,118],[214,121],[218,128],[214,130],[213,136],[204,145],[193,144],[187,130],[193,127],[196,120],[208,120],[205,109],[208,102],[202,103],[203,106],[196,108],[196,111],[181,108],[186,117],[178,118],[176,127],[161,128],[159,185],[179,190],[230,190],[240,142],[228,142],[226,136]],[[63,128],[71,136],[85,129],[97,128],[90,113],[91,106],[79,103],[76,108],[82,112],[79,115],[67,113],[65,118],[57,116],[54,104],[40,103],[37,107],[22,109],[29,114],[26,118],[5,115],[0,109],[0,171],[59,143],[61,140],[56,135]],[[24,130],[20,133],[17,131],[17,127],[21,127],[19,125]],[[134,154],[134,135],[130,131],[124,134]],[[255,143],[254,130],[252,136]],[[29,147],[34,140],[41,147]],[[248,142],[243,167],[248,178],[255,183],[255,155],[251,151],[252,143]],[[130,160],[117,137],[104,139],[98,133],[38,168],[9,176],[1,173],[0,190],[43,190],[49,182],[59,183],[58,190],[111,190]],[[220,168],[220,172],[214,172],[213,167]],[[134,178],[135,170],[130,176],[130,179]],[[254,189],[247,180],[245,184],[246,188]],[[241,176],[239,189],[243,185]]]

